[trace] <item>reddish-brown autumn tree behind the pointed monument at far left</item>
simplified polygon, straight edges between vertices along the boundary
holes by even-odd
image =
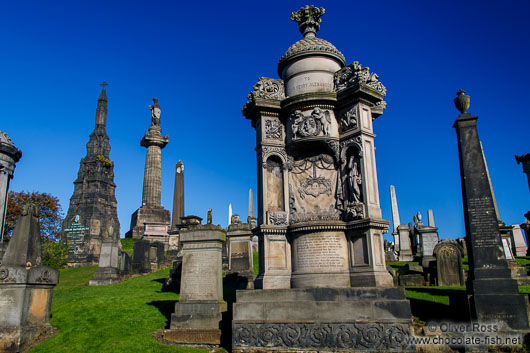
[[[4,240],[8,240],[20,212],[25,204],[32,203],[39,210],[40,234],[42,241],[55,242],[61,238],[63,215],[59,199],[47,193],[9,191],[6,220],[4,226]]]

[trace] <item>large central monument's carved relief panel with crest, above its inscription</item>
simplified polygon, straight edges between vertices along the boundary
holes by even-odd
[[[339,219],[338,172],[333,157],[306,155],[294,160],[289,185],[290,223]]]

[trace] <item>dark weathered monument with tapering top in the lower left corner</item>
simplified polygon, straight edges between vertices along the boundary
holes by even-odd
[[[25,351],[49,328],[59,271],[42,265],[39,217],[26,205],[0,266],[0,351]]]

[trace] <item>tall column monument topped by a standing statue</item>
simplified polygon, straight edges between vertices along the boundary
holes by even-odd
[[[147,148],[144,170],[144,187],[142,206],[134,211],[131,217],[131,229],[125,234],[127,238],[153,242],[162,242],[169,247],[168,228],[171,225],[169,211],[161,205],[162,194],[162,148],[166,147],[169,137],[162,136],[160,128],[160,103],[153,98],[151,126],[145,132],[140,145]]]

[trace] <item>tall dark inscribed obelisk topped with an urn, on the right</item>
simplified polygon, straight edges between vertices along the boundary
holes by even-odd
[[[467,113],[469,96],[457,93],[461,114],[454,127],[458,137],[460,175],[469,256],[467,288],[471,315],[479,323],[501,329],[528,329],[527,297],[519,294],[504,256],[488,173],[478,138],[478,117]]]

